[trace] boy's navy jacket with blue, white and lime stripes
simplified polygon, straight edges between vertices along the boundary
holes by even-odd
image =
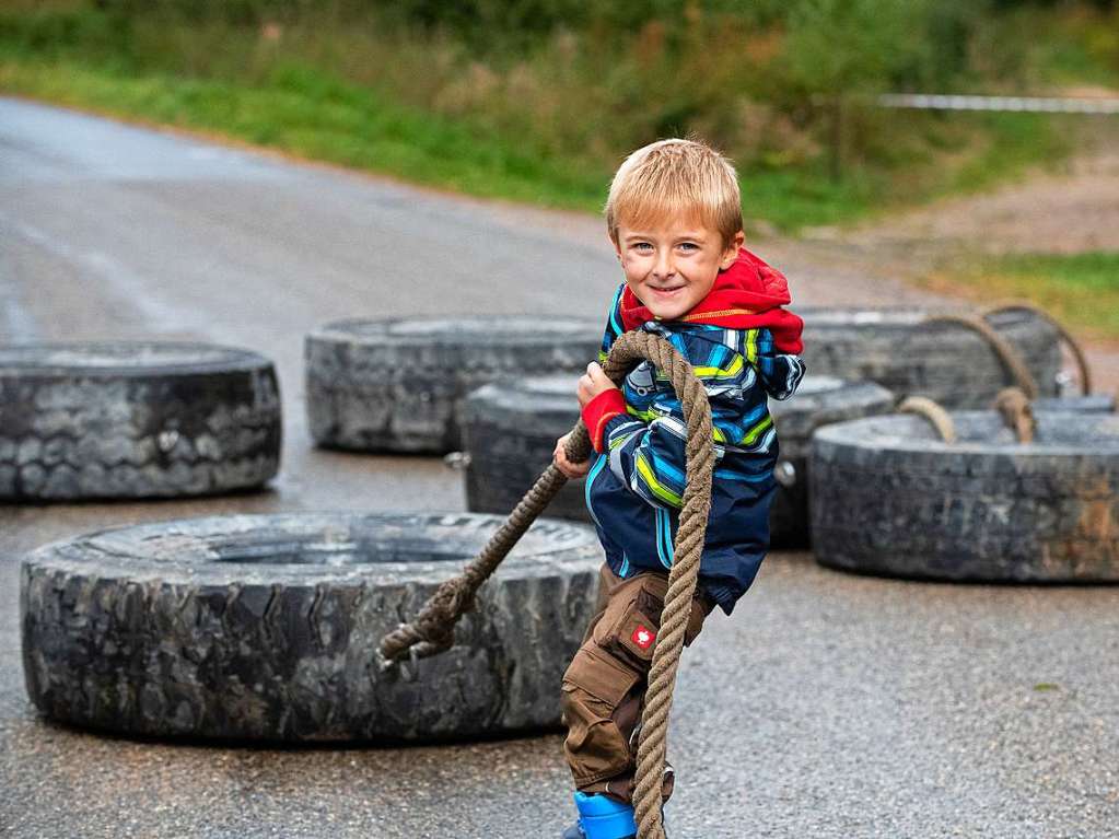
[[[623,291],[624,285],[614,295],[600,359],[623,331]],[[780,314],[794,318],[783,310]],[[769,547],[778,441],[768,396],[791,396],[805,365],[798,355],[781,351],[790,346],[799,351],[799,319],[796,340],[786,334],[782,346],[775,345],[773,329],[735,329],[705,320],[648,320],[637,328],[671,341],[709,397],[716,466],[699,586],[730,614]],[[784,321],[782,328],[787,326]],[[642,362],[621,393],[608,390],[589,403],[583,418],[599,453],[586,477],[586,506],[606,562],[621,577],[666,572],[679,525],[687,436],[671,384]]]

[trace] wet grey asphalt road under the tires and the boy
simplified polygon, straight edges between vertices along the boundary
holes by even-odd
[[[906,292],[774,245],[809,302]],[[783,258],[787,256],[788,258]],[[552,837],[556,735],[255,750],[94,736],[23,692],[18,565],[111,524],[225,510],[462,509],[438,460],[313,451],[302,337],[339,317],[599,314],[598,221],[0,100],[0,334],[182,338],[278,364],[284,469],[189,503],[0,507],[0,836]],[[859,285],[862,283],[862,285]],[[1119,837],[1119,591],[853,577],[777,554],[688,652],[674,837]]]

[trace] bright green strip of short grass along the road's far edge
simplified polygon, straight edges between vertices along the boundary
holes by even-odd
[[[298,64],[245,85],[0,54],[0,93],[205,131],[485,198],[586,213],[602,209],[613,175],[596,161],[540,152]],[[833,182],[812,170],[743,173],[747,217],[782,230],[865,217],[881,198],[880,186],[865,178]]]

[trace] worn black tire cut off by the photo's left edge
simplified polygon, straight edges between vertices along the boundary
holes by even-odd
[[[280,468],[266,358],[201,343],[0,347],[0,500],[206,496]]]

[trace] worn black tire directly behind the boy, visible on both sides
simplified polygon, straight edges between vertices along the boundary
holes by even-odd
[[[488,385],[470,394],[464,411],[467,509],[508,513],[552,462],[556,439],[579,418],[574,381],[546,376]],[[770,516],[775,547],[808,543],[807,465],[812,432],[820,425],[893,408],[893,396],[871,381],[808,376],[797,395],[770,400],[781,443],[781,469],[794,480],[780,486]],[[570,481],[548,506],[549,516],[590,522],[584,482]]]

